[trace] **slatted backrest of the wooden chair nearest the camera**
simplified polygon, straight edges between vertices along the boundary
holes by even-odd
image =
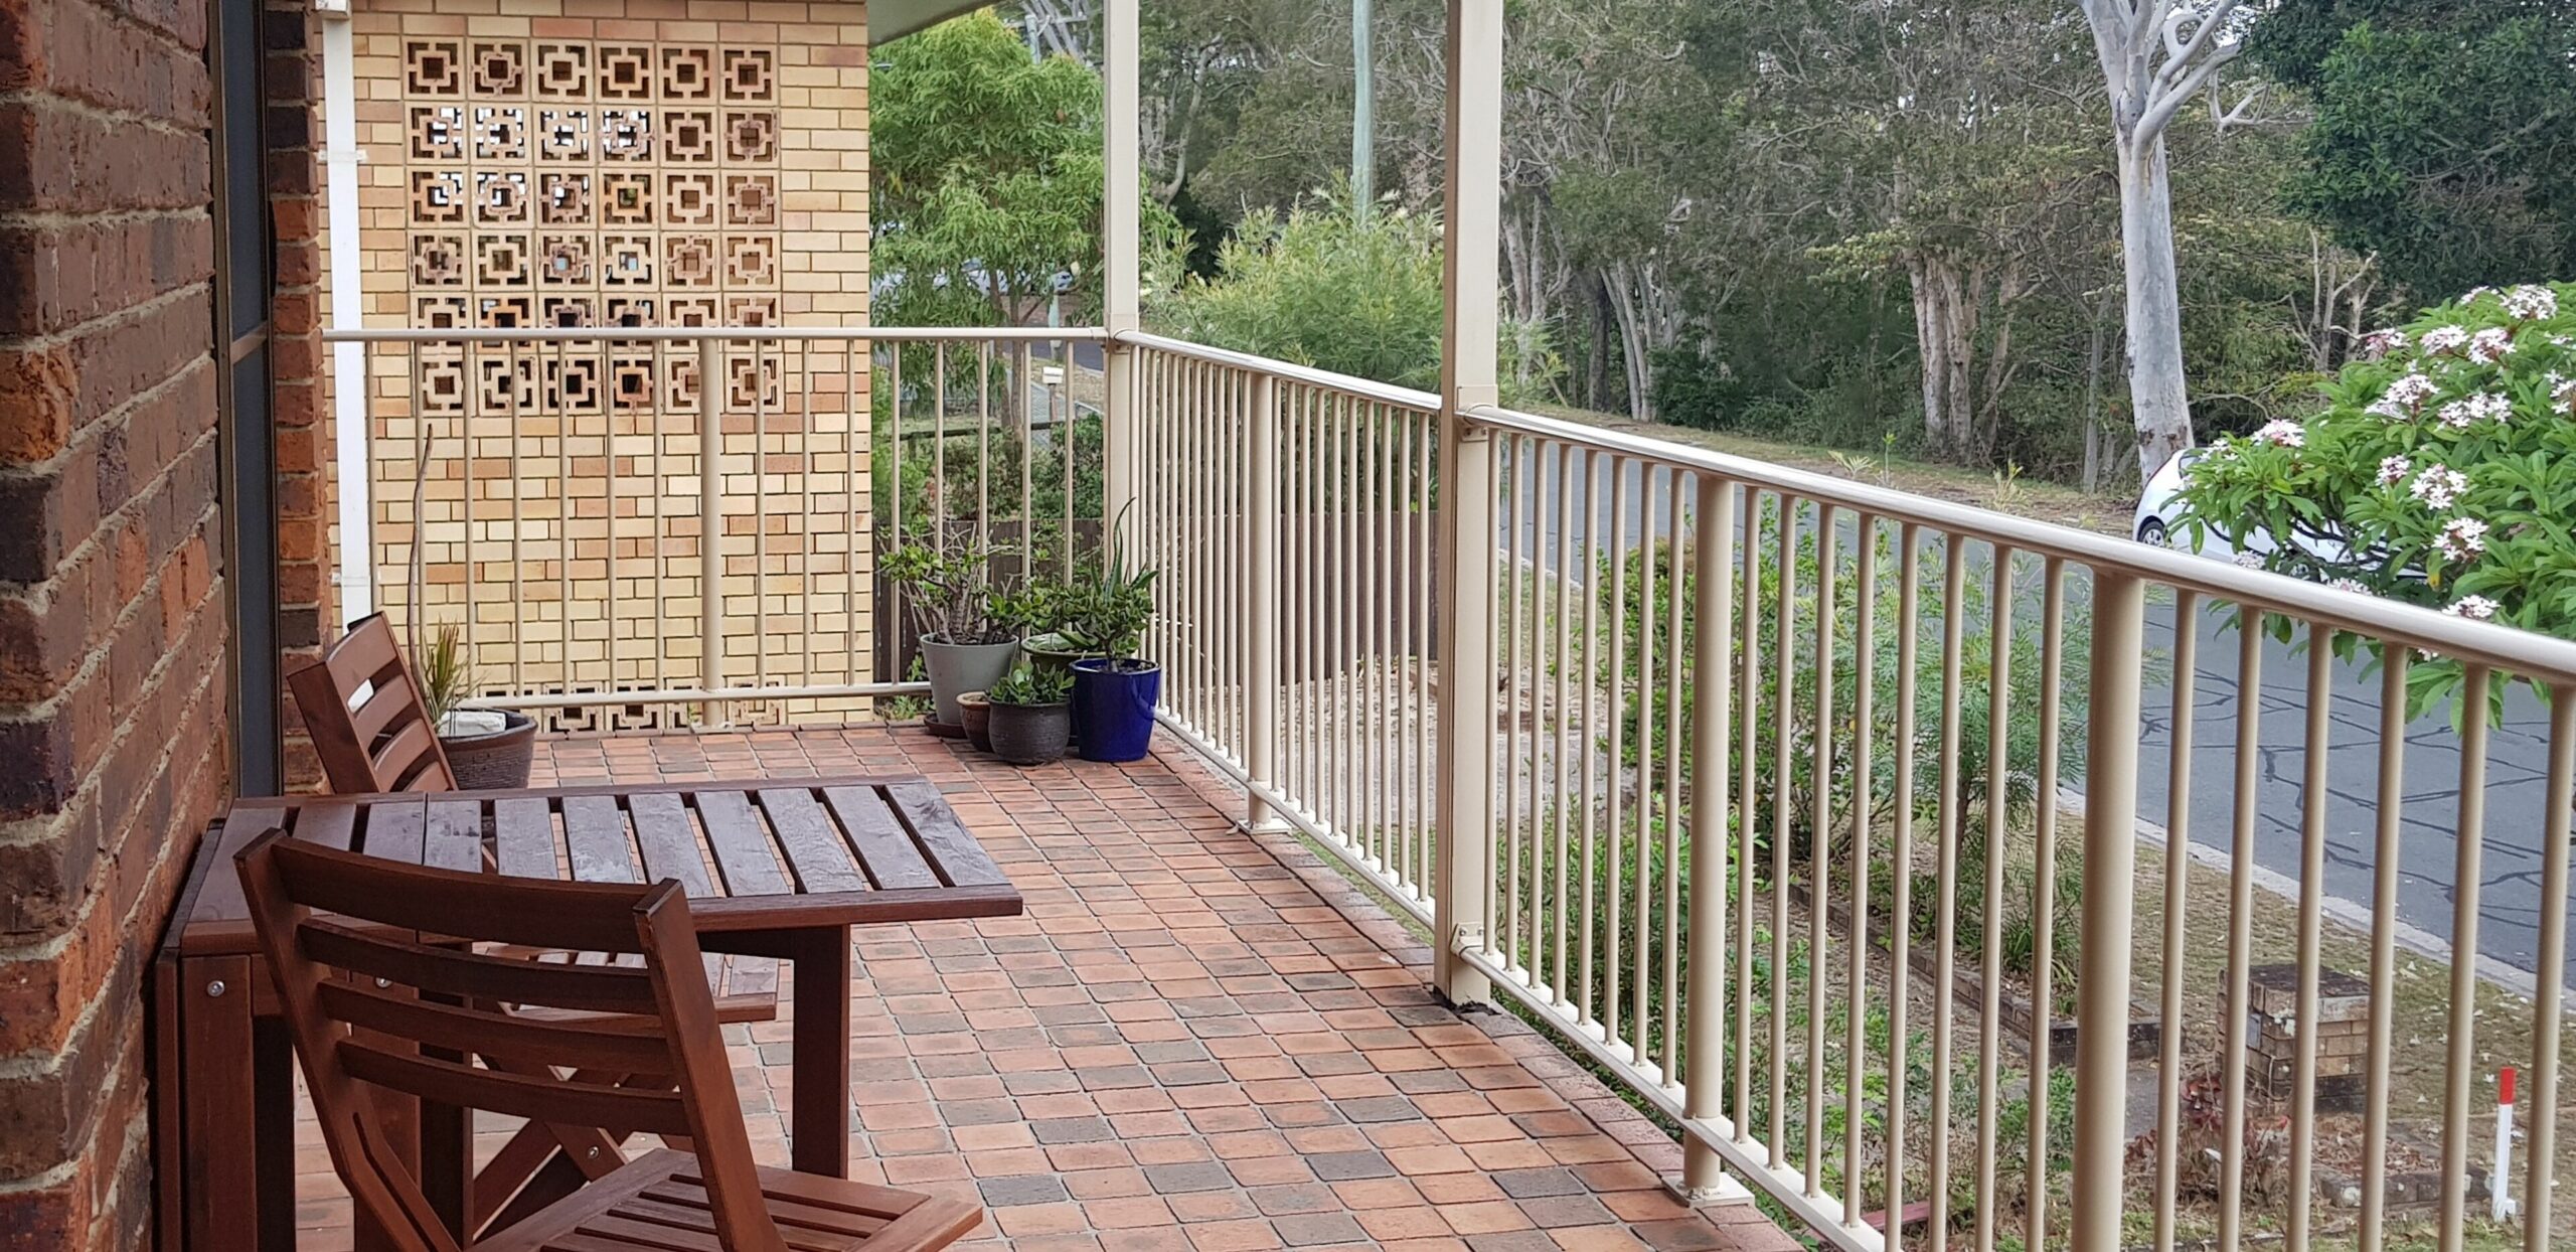
[[[392,1152],[363,1087],[549,1123],[688,1136],[721,1247],[786,1249],[760,1198],[714,992],[701,974],[698,927],[677,881],[477,876],[281,832],[245,848],[240,871],[332,1167],[399,1247],[461,1244]],[[479,943],[641,956],[641,966],[541,963],[479,953]],[[577,1012],[567,1020],[515,1007]],[[572,1082],[554,1067],[675,1082],[605,1087]]]

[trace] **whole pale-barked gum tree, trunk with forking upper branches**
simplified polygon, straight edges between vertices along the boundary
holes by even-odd
[[[2120,258],[2128,270],[2128,397],[2138,479],[2192,446],[2174,273],[2174,185],[2164,131],[2244,52],[2241,0],[2076,0],[2110,90],[2120,167]],[[2254,95],[2239,106],[2241,113]],[[2233,116],[2233,113],[2231,113]]]

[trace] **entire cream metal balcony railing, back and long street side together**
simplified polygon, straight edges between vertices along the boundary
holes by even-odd
[[[1698,1198],[1850,1249],[2576,1234],[2576,644],[1154,335],[366,340],[374,559],[420,526],[425,608],[533,647],[507,703],[917,690],[868,554],[1100,526],[1247,822],[1664,1113]],[[549,415],[567,345],[781,381]],[[435,350],[536,381],[440,410]]]

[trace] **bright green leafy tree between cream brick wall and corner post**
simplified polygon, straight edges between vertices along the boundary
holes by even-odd
[[[1092,317],[1097,72],[1030,59],[987,10],[881,46],[871,108],[886,325],[1033,325],[1056,296],[1066,317]],[[1149,281],[1170,283],[1180,224],[1146,201],[1144,229]]]

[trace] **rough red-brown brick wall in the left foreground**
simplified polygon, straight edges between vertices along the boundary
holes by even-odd
[[[142,1244],[144,966],[227,788],[204,0],[0,0],[0,1247]]]

